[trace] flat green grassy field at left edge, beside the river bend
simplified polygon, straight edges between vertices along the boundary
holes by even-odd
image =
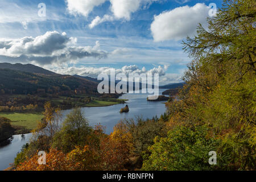
[[[27,113],[0,113],[0,117],[11,119],[11,125],[14,127],[24,127],[26,130],[35,129],[37,122],[43,118],[42,114]]]

